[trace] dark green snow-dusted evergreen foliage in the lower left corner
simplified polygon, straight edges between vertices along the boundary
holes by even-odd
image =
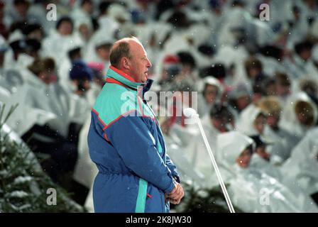
[[[0,212],[82,212],[67,192],[53,183],[42,171],[37,158],[22,141],[5,132],[4,123],[14,111],[4,117],[0,112]],[[47,190],[56,190],[57,204],[48,205]]]

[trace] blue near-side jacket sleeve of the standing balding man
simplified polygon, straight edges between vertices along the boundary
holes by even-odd
[[[130,170],[163,192],[172,191],[175,187],[172,173],[155,148],[155,139],[141,117],[119,118],[106,128],[106,135]]]

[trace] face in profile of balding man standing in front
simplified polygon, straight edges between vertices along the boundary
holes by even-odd
[[[148,79],[148,68],[151,63],[147,57],[146,50],[141,43],[136,41],[130,42],[131,60],[130,61],[130,75],[138,83],[144,83]]]

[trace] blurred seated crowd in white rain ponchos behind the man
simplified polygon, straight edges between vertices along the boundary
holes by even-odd
[[[183,182],[218,185],[182,112],[197,106],[235,206],[318,212],[315,0],[0,1],[0,106],[18,104],[6,124],[53,181],[93,211],[90,111],[111,45],[128,35],[148,53],[151,90],[182,94],[150,104],[169,113],[158,118]]]

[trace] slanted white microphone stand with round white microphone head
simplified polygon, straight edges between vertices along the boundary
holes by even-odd
[[[234,207],[233,207],[232,202],[231,202],[231,199],[230,199],[229,194],[228,194],[228,192],[226,190],[224,181],[223,181],[223,179],[221,177],[221,173],[219,171],[219,167],[216,165],[216,161],[215,161],[214,155],[212,153],[211,147],[210,147],[209,142],[207,140],[207,135],[205,135],[205,133],[204,133],[204,130],[203,130],[203,127],[202,127],[202,123],[201,123],[201,121],[199,119],[199,114],[197,114],[196,111],[194,109],[192,109],[192,108],[185,109],[184,113],[185,113],[185,116],[187,116],[189,118],[192,118],[192,119],[194,119],[197,122],[197,124],[199,126],[199,130],[200,130],[201,135],[202,135],[202,138],[204,140],[204,144],[207,147],[207,152],[209,153],[209,157],[210,157],[210,159],[212,161],[212,165],[213,165],[214,170],[216,172],[216,177],[219,180],[219,184],[220,184],[222,192],[224,194],[224,197],[225,197],[225,200],[226,200],[226,204],[229,207],[229,211],[231,213],[235,213]]]

